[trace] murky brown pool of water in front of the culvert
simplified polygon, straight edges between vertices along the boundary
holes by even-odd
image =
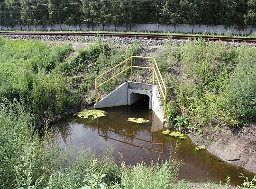
[[[225,182],[229,175],[231,184],[237,185],[243,182],[239,172],[249,178],[253,177],[252,172],[221,162],[217,156],[206,150],[195,150],[196,145],[190,140],[163,136],[163,126],[144,102],[103,110],[107,112],[106,117],[101,117],[93,123],[70,116],[54,125],[59,146],[64,148],[72,144],[80,150],[83,144],[94,149],[97,155],[112,146],[116,163],[119,163],[121,153],[126,164],[131,165],[142,161],[156,162],[158,158],[160,161],[166,160],[170,157],[170,149],[173,148],[172,157],[183,163],[180,168],[180,180],[219,183]],[[129,117],[144,118],[150,122],[137,124],[127,121]],[[177,143],[179,145],[174,148]]]

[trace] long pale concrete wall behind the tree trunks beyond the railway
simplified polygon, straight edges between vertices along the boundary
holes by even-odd
[[[14,26],[14,27],[6,27],[0,26],[1,30],[21,30],[21,26]],[[85,24],[81,26],[69,26],[66,24],[54,25],[54,26],[22,26],[22,30],[55,30],[55,31],[90,31],[92,30],[91,27],[87,27]],[[103,30],[102,25],[96,25],[93,30]],[[115,31],[115,27],[113,25],[105,26],[104,30],[106,31]],[[117,31],[128,31],[125,26],[117,27]],[[157,25],[157,24],[135,24],[131,31],[158,31],[158,32],[174,32],[174,26],[165,26],[165,25]],[[226,34],[227,32],[232,34],[250,34],[250,31],[256,32],[256,28],[251,28],[251,26],[247,26],[244,30],[237,30],[235,26],[231,26],[230,28],[225,28],[222,25],[196,25],[196,26],[189,26],[186,24],[176,26],[176,32],[182,33],[214,33],[214,34]]]

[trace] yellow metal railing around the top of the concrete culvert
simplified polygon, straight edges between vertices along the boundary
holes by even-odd
[[[134,58],[141,58],[141,59],[151,59],[153,60],[153,67],[143,67],[143,66],[134,66],[133,65],[133,59]],[[128,68],[120,71],[118,74],[116,74],[115,76],[113,77],[110,77],[108,80],[104,81],[103,83],[101,83],[100,85],[98,85],[98,80],[100,77],[106,75],[107,73],[109,73],[110,71],[112,71],[113,69],[121,66],[122,64],[124,64],[125,62],[127,62],[128,60],[130,60],[131,64]],[[104,72],[103,74],[101,74],[100,76],[96,77],[95,78],[95,93],[96,93],[96,103],[98,103],[98,88],[101,87],[102,85],[104,85],[105,83],[109,82],[110,80],[112,80],[113,78],[115,77],[118,77],[120,74],[122,74],[123,72],[127,71],[128,69],[130,69],[130,72],[131,72],[131,76],[130,76],[130,81],[132,81],[132,74],[133,74],[133,68],[141,68],[141,69],[152,69],[153,70],[153,84],[155,84],[155,77],[156,77],[156,80],[157,80],[157,83],[159,85],[159,88],[161,90],[161,93],[164,97],[164,100],[165,100],[165,106],[164,106],[164,118],[165,118],[165,112],[166,112],[166,99],[167,99],[167,89],[166,89],[166,86],[165,86],[165,82],[164,82],[164,79],[160,73],[160,70],[157,66],[157,63],[156,63],[156,60],[155,58],[153,57],[144,57],[144,56],[131,56],[130,58],[122,61],[121,63],[119,63],[118,65],[114,66],[113,68],[109,69],[108,71]],[[159,80],[159,77],[160,77],[160,80]],[[160,82],[161,81],[161,82]],[[164,92],[165,91],[165,92]]]

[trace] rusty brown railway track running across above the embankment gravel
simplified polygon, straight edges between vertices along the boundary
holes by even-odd
[[[224,41],[237,43],[256,43],[256,38],[247,37],[222,37],[222,36],[200,36],[200,35],[167,35],[167,34],[129,34],[129,33],[76,33],[76,32],[0,32],[0,35],[54,35],[54,36],[102,36],[102,37],[123,37],[143,39],[177,39],[189,40],[203,38],[206,41]]]

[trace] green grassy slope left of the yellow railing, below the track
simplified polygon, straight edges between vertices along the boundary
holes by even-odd
[[[69,45],[50,46],[39,41],[0,37],[0,97],[10,101],[24,98],[37,118],[78,105],[82,94],[88,96],[88,103],[93,103],[95,97],[90,94],[94,93],[95,77],[136,54],[138,49],[136,42],[118,48],[98,40],[65,61],[65,57],[73,52]],[[105,81],[122,68],[115,69],[99,82]],[[76,77],[77,74],[82,74],[82,77]],[[100,93],[109,93],[127,77],[128,72],[110,81],[100,88]],[[79,83],[79,86],[70,87],[67,80],[71,85]]]

